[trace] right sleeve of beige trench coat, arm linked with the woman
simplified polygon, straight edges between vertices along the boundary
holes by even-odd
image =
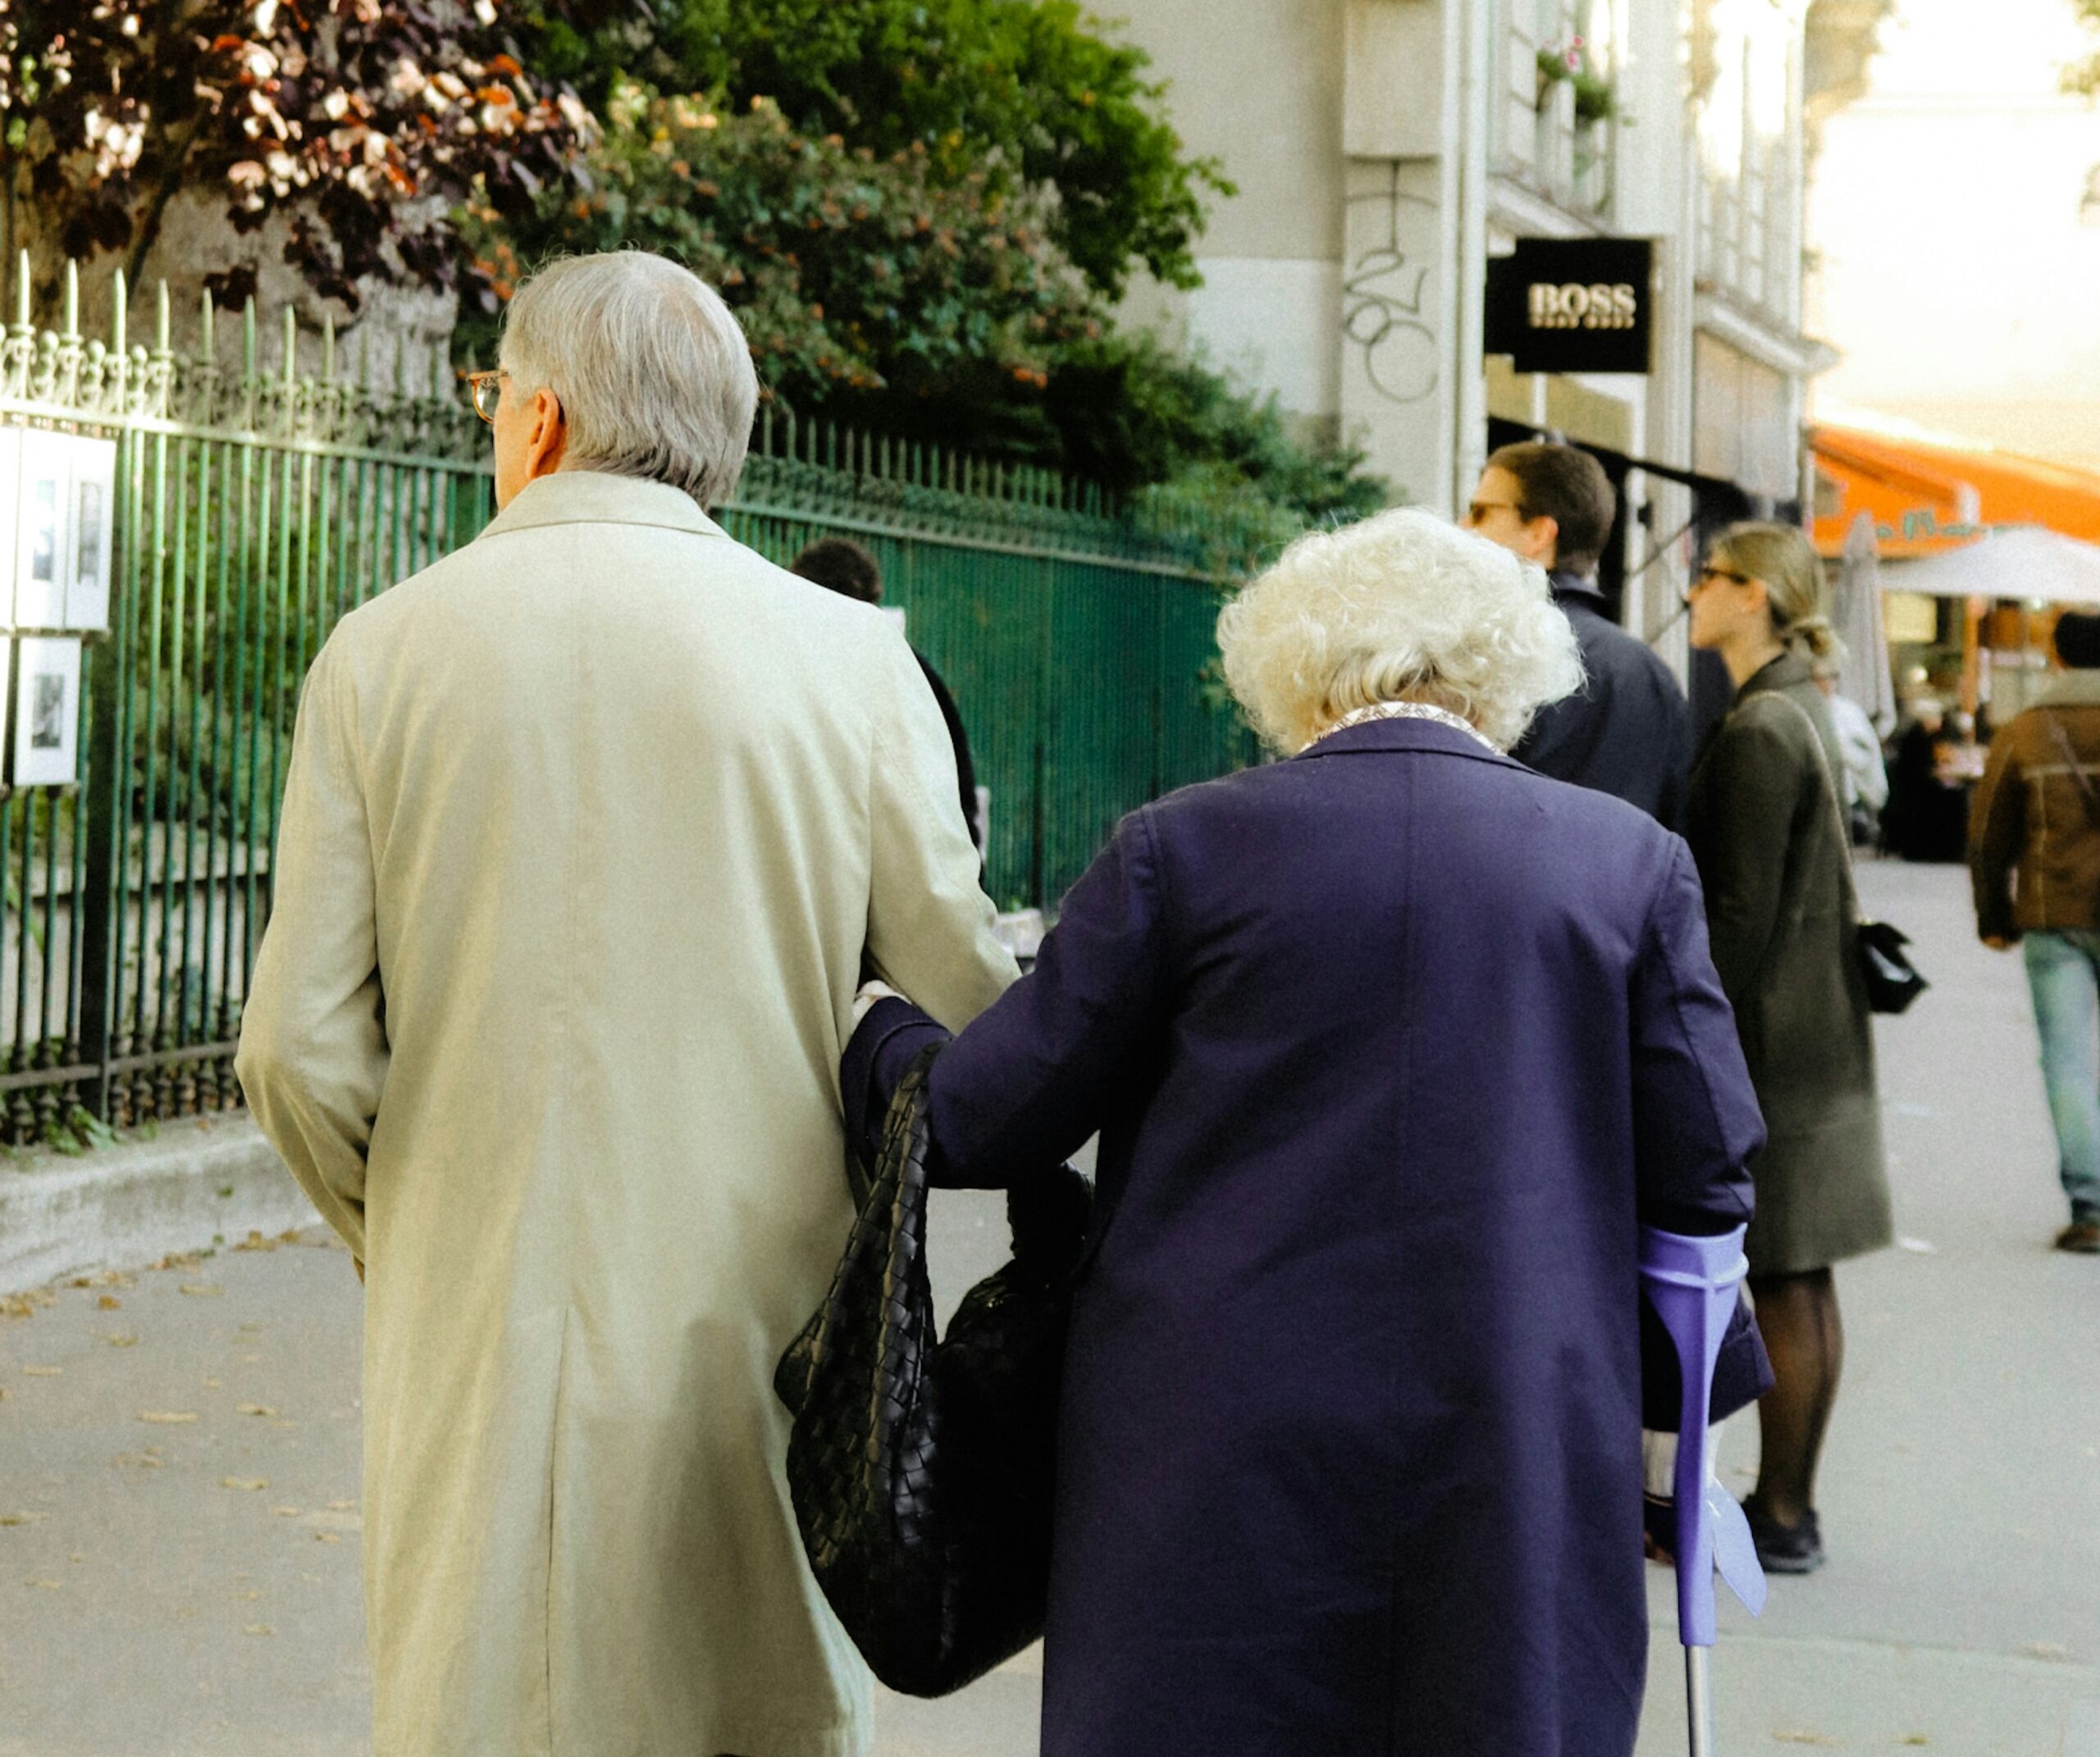
[[[884,701],[869,766],[867,961],[951,1031],[1018,974],[993,934],[976,844],[956,814],[956,749],[941,707],[892,630],[882,634]]]

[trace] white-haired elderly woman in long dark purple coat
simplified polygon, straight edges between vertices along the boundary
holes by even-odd
[[[1762,1140],[1697,873],[1506,756],[1581,682],[1506,550],[1308,535],[1218,640],[1289,760],[1124,819],[928,1083],[937,1182],[1100,1134],[1044,1751],[1625,1757],[1638,1226],[1741,1224]],[[941,1035],[867,1008],[855,1125]]]

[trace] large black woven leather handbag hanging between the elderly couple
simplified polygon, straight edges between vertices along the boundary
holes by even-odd
[[[926,1068],[890,1100],[823,1306],[781,1356],[788,1490],[817,1585],[890,1690],[945,1696],[1044,1629],[1056,1404],[1092,1207],[1069,1165],[1006,1199],[1014,1257],[934,1339]]]

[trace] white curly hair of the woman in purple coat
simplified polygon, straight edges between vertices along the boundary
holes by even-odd
[[[1224,607],[1218,651],[1285,754],[1380,701],[1445,707],[1508,749],[1583,680],[1546,573],[1411,508],[1300,537]]]

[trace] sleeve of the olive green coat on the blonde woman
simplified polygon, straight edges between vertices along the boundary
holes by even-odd
[[[1741,1005],[1779,930],[1800,758],[1777,722],[1739,712],[1714,739],[1699,785],[1705,810],[1693,854],[1705,886],[1712,957],[1728,1001]]]

